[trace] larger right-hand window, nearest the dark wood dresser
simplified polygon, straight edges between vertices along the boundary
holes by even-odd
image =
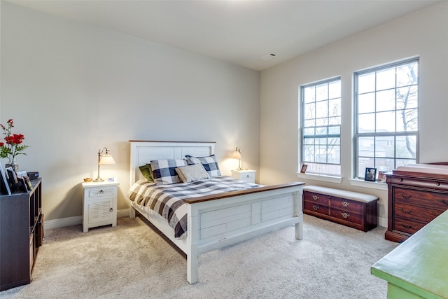
[[[356,176],[387,172],[418,160],[419,60],[354,74]]]

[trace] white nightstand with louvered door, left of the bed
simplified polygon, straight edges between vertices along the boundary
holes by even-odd
[[[83,183],[83,232],[101,225],[117,225],[117,181]]]

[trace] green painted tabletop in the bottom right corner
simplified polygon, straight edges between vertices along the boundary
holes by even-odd
[[[370,272],[388,281],[388,298],[448,298],[448,211],[372,265]]]

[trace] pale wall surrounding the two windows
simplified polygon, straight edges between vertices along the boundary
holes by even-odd
[[[448,2],[423,9],[314,50],[261,73],[260,182],[302,181],[299,164],[299,86],[333,76],[342,78],[342,183],[311,184],[380,197],[379,217],[387,218],[386,191],[354,188],[352,146],[353,71],[419,55],[420,162],[448,161]]]

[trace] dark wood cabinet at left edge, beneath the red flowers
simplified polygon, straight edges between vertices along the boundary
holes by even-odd
[[[28,193],[0,195],[0,291],[29,284],[43,241],[41,179]]]

